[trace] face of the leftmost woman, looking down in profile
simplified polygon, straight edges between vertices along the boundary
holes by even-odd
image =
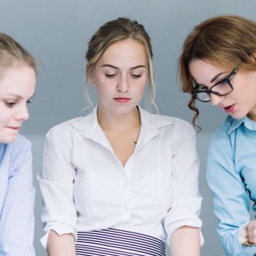
[[[29,117],[27,104],[34,95],[36,74],[29,66],[12,66],[0,79],[0,142],[11,143]]]

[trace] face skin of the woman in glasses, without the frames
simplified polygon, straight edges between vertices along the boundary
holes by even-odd
[[[197,84],[208,89],[225,80],[232,72],[232,69],[223,69],[202,59],[190,62],[189,69]],[[212,105],[228,112],[234,119],[241,119],[249,113],[256,114],[256,71],[237,69],[229,83],[232,84],[233,91],[225,96],[211,94]]]

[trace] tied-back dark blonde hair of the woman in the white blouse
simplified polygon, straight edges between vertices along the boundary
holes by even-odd
[[[105,50],[117,41],[125,39],[133,39],[144,45],[144,49],[148,56],[148,73],[150,87],[148,88],[151,104],[155,105],[155,80],[153,70],[153,52],[151,48],[151,38],[144,29],[144,26],[137,23],[136,20],[128,18],[118,18],[111,20],[98,28],[88,43],[88,50],[85,55],[90,68],[101,58]],[[88,73],[88,70],[87,70]],[[89,99],[90,102],[90,99]],[[156,105],[155,105],[156,107]]]

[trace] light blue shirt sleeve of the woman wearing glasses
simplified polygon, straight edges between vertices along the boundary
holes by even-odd
[[[222,126],[208,151],[207,180],[212,190],[214,212],[219,219],[217,232],[228,256],[249,256],[255,247],[243,247],[239,230],[250,221],[250,197],[236,169],[232,139]]]

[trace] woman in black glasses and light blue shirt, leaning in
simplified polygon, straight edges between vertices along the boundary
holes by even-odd
[[[214,198],[217,231],[227,255],[256,253],[256,23],[217,16],[194,27],[180,56],[183,91],[229,114],[208,152],[207,178]]]

